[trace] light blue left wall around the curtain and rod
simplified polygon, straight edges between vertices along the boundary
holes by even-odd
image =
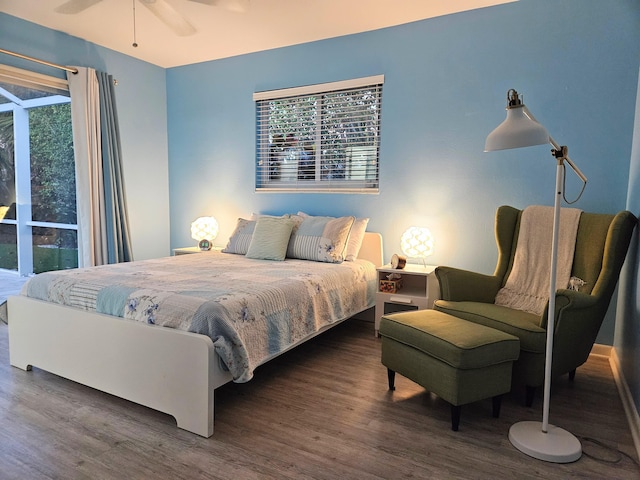
[[[118,80],[116,101],[134,258],[169,255],[165,69],[0,13],[0,47]],[[64,78],[62,70],[0,54],[0,63]]]

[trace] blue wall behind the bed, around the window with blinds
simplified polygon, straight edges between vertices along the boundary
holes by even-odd
[[[171,245],[192,244],[189,223],[203,214],[225,243],[252,212],[351,213],[371,217],[387,260],[419,225],[436,239],[430,263],[491,273],[495,209],[554,198],[547,147],[483,153],[509,88],[589,178],[575,206],[625,208],[639,27],[637,2],[521,0],[169,69]],[[254,92],[375,74],[385,75],[379,195],[254,192]],[[567,197],[577,193],[569,181]],[[613,331],[610,313],[599,341],[612,344]]]

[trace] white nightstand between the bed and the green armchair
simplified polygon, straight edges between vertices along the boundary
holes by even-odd
[[[375,334],[380,330],[380,318],[387,313],[405,310],[433,308],[434,300],[440,298],[440,286],[433,265],[408,263],[403,269],[383,265],[378,268],[378,291],[376,293]],[[395,293],[380,291],[380,280],[386,280],[390,273],[402,276],[402,287]]]

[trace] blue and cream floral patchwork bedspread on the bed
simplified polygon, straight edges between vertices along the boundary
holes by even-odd
[[[22,295],[208,335],[235,382],[293,343],[375,303],[376,270],[242,255],[179,255],[41,273]]]

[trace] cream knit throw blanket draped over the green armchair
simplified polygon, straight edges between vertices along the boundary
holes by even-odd
[[[582,210],[560,209],[556,287],[567,288],[571,277],[578,223]],[[549,300],[553,207],[534,205],[522,211],[513,268],[496,295],[496,305],[541,315]]]

